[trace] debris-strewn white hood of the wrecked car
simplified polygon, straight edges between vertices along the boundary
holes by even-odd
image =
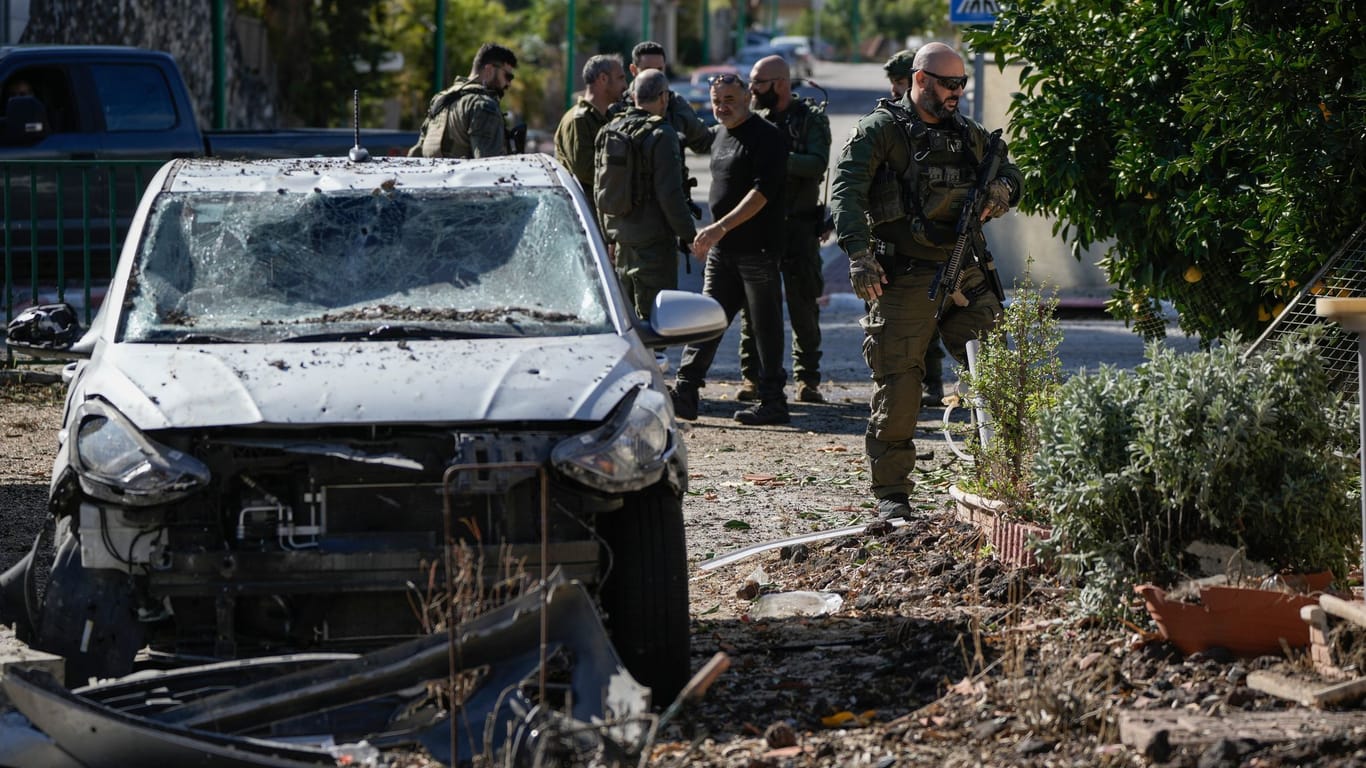
[[[141,429],[604,420],[654,377],[615,335],[324,344],[108,344],[82,398]]]

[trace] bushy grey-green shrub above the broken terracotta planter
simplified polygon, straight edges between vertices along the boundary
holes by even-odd
[[[1171,584],[1194,541],[1347,573],[1359,547],[1358,422],[1317,354],[1321,332],[1246,361],[1236,338],[1194,354],[1150,344],[1134,370],[1061,385],[1040,420],[1034,497],[1064,570],[1093,590],[1085,601]]]

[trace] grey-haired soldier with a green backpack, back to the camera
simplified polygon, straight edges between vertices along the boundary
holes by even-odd
[[[683,152],[679,135],[664,118],[669,102],[669,81],[658,70],[645,70],[631,82],[634,107],[612,118],[600,131],[594,172],[600,183],[598,217],[609,242],[616,245],[616,275],[626,297],[642,318],[650,317],[654,297],[678,288],[678,242],[697,236],[683,186]],[[630,179],[609,179],[604,152],[604,131],[632,137],[639,167]],[[608,189],[608,182],[615,189]],[[623,189],[626,187],[626,189]],[[635,187],[635,189],[632,189]],[[623,205],[605,204],[607,195],[632,201],[627,213],[613,215]]]

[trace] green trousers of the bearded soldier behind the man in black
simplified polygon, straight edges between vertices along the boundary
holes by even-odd
[[[810,387],[821,383],[821,307],[825,292],[821,276],[821,245],[809,221],[788,221],[787,251],[783,256],[783,294],[787,320],[792,325],[792,379]],[[800,228],[794,232],[792,228]],[[740,314],[740,376],[758,381],[758,354],[749,313]]]

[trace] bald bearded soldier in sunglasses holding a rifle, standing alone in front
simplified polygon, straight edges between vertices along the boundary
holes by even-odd
[[[964,260],[962,292],[930,299],[952,253],[955,224],[986,154],[989,134],[959,111],[967,85],[963,57],[932,42],[915,53],[911,90],[882,100],[859,119],[836,164],[831,208],[850,257],[854,292],[869,302],[862,320],[863,358],[873,373],[865,451],[877,511],[910,517],[915,426],[925,379],[925,350],[938,331],[958,361],[964,346],[996,324],[1001,302],[975,260]],[[1007,157],[986,187],[982,217],[1019,201],[1023,176]],[[881,258],[870,247],[884,243]],[[985,254],[974,238],[973,251]],[[959,305],[962,299],[962,305]]]

